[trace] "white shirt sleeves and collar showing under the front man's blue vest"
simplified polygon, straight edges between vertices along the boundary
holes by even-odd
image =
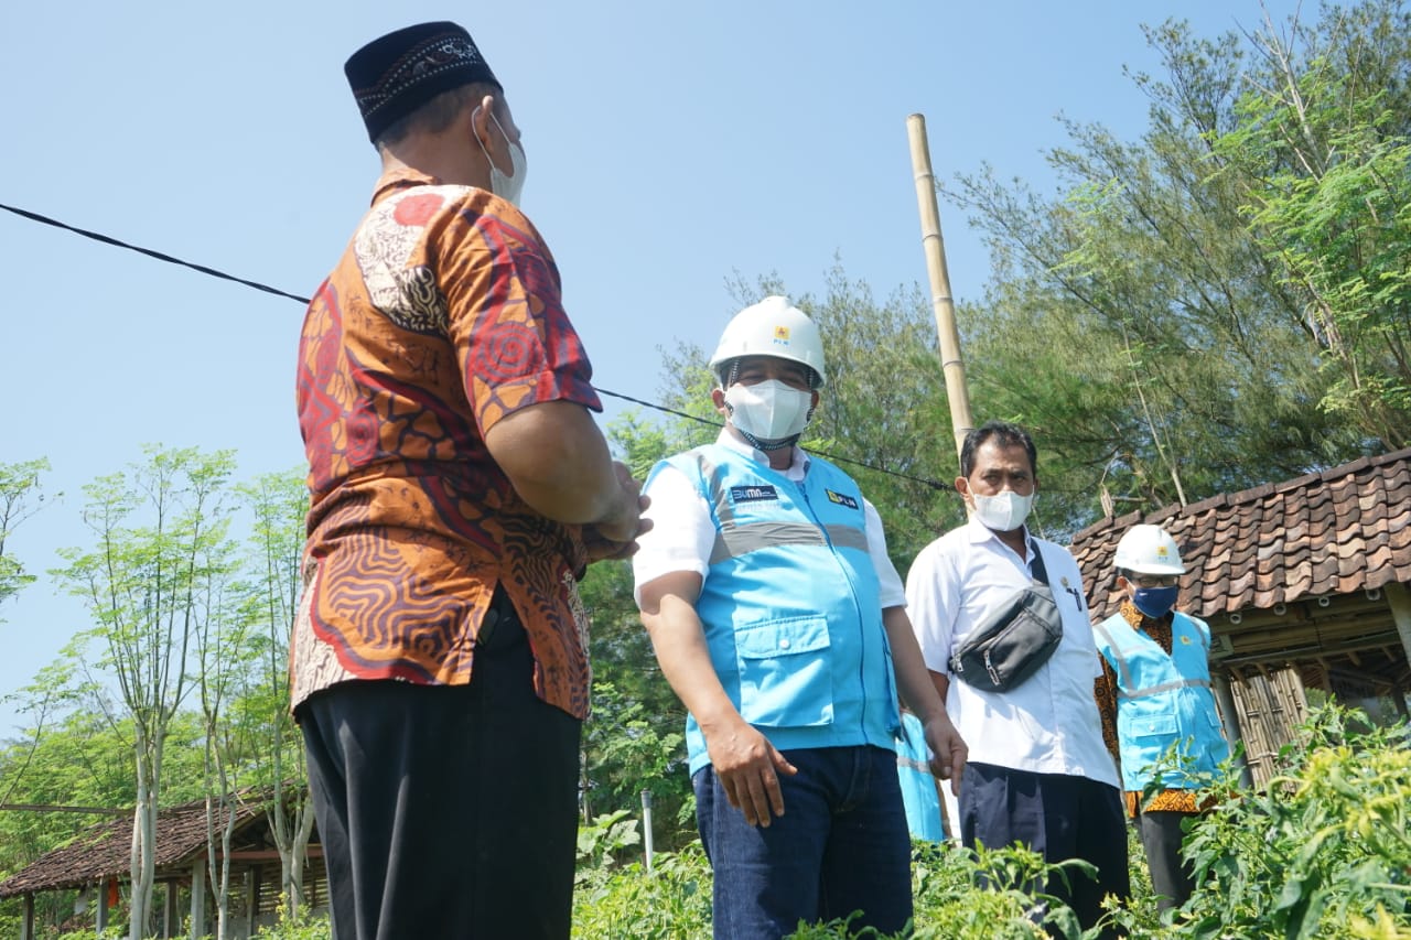
[[[768,464],[769,457],[748,443],[737,439],[728,430],[721,430],[715,443],[746,454]],[[810,457],[799,447],[793,449],[793,460],[785,470],[785,477],[800,483],[809,473]],[[715,545],[715,521],[710,504],[696,486],[676,467],[662,467],[645,490],[652,505],[642,515],[652,519],[652,531],[642,535],[638,552],[632,556],[632,576],[636,582],[634,594],[642,601],[642,584],[672,572],[696,572],[703,579],[710,567],[711,548]],[[902,577],[886,553],[886,535],[882,532],[882,517],[866,498],[862,500],[868,555],[876,569],[882,610],[906,605],[906,589]]]

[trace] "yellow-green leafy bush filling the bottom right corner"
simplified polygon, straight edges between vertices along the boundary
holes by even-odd
[[[1181,912],[1182,936],[1411,934],[1408,742],[1405,725],[1315,711],[1264,792],[1230,796],[1192,828],[1202,888]]]

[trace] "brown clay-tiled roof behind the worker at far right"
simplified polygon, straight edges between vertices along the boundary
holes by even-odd
[[[1096,618],[1118,607],[1112,558],[1137,522],[1181,546],[1181,608],[1199,617],[1411,583],[1411,449],[1088,526],[1072,553]]]

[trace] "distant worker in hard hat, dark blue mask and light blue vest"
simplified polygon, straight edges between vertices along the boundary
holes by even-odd
[[[1094,629],[1105,662],[1098,711],[1164,910],[1191,896],[1182,823],[1199,813],[1198,790],[1218,778],[1229,744],[1211,692],[1211,628],[1175,610],[1185,574],[1175,539],[1158,525],[1134,525],[1115,562],[1125,598]],[[1143,803],[1157,773],[1160,786]]]

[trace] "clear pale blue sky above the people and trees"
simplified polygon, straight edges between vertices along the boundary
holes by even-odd
[[[1268,1],[1277,18],[1295,6]],[[658,399],[659,350],[713,343],[737,275],[821,292],[838,257],[878,296],[926,284],[907,114],[927,119],[937,176],[988,161],[1050,191],[1055,116],[1144,128],[1123,66],[1160,71],[1140,24],[1173,16],[1215,35],[1263,13],[1257,0],[10,4],[0,203],[308,295],[378,169],[343,61],[392,28],[457,20],[523,130],[522,203],[595,384]],[[941,216],[954,292],[978,299],[983,246],[954,207]],[[6,545],[41,580],[0,607],[4,696],[87,625],[44,574],[56,548],[89,543],[85,483],[145,443],[233,447],[243,477],[303,454],[298,303],[3,212],[0,244],[0,462],[54,467],[42,511]],[[605,401],[604,418],[621,411]],[[20,720],[0,703],[0,738]]]

